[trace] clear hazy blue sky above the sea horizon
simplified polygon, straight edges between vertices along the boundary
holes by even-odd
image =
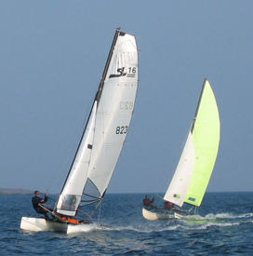
[[[253,1],[0,2],[0,187],[60,193],[117,27],[140,83],[109,193],[164,193],[206,77],[220,110],[208,192],[252,191]]]

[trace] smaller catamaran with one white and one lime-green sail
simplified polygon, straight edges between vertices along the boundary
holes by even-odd
[[[220,116],[209,82],[205,79],[193,123],[174,176],[166,190],[165,202],[172,209],[144,207],[142,215],[149,221],[182,218],[193,214],[182,209],[193,206],[196,212],[202,203],[216,162],[220,144]]]

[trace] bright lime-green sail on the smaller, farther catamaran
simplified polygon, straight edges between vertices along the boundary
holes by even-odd
[[[219,110],[207,80],[204,81],[191,132],[193,134],[195,164],[184,202],[199,207],[206,193],[220,143]]]

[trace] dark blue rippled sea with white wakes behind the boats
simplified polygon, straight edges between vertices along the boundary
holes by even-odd
[[[21,231],[21,217],[36,216],[31,196],[0,195],[0,255],[253,254],[253,193],[207,193],[200,216],[156,222],[141,215],[144,195],[107,194],[98,228],[74,235]]]

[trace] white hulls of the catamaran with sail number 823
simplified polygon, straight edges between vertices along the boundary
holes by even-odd
[[[59,222],[50,222],[40,218],[22,217],[20,229],[25,231],[44,231],[44,232],[63,232],[66,234],[89,232],[96,228],[95,223],[87,224],[67,224]]]

